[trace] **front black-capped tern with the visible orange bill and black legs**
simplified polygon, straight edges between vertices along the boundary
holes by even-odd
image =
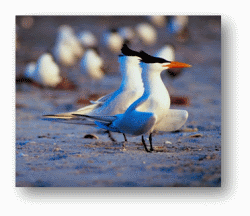
[[[154,57],[144,51],[139,52],[138,56],[141,58],[144,93],[123,114],[113,116],[74,115],[92,119],[96,125],[108,131],[142,136],[146,152],[152,152],[154,151],[153,131],[176,130],[186,122],[188,117],[188,112],[185,110],[169,109],[170,97],[160,74],[165,69],[191,67],[191,65]],[[144,140],[146,134],[149,134],[150,150]]]

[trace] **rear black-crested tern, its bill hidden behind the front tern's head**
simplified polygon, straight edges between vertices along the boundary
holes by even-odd
[[[128,48],[126,44],[123,45],[122,55],[119,56],[120,71],[122,74],[122,82],[119,89],[113,93],[101,97],[97,101],[92,101],[91,105],[78,109],[77,111],[44,115],[44,120],[53,120],[70,124],[94,125],[83,119],[83,115],[116,115],[124,113],[126,109],[143,94],[144,88],[141,78],[142,69],[139,66],[139,53]],[[124,135],[125,141],[127,138]]]

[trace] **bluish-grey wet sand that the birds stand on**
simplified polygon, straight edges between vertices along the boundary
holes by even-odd
[[[53,46],[59,24],[71,24],[76,32],[91,25],[93,32],[101,37],[105,26],[135,25],[146,20],[105,17],[96,22],[99,17],[92,18],[35,19],[33,28],[20,32],[17,75],[23,73],[27,61],[37,59]],[[124,143],[122,135],[113,134],[117,142],[112,142],[105,131],[97,128],[41,120],[44,114],[84,106],[81,99],[91,94],[104,95],[119,87],[117,55],[101,46],[107,75],[94,88],[78,72],[78,66],[71,73],[64,71],[80,86],[74,91],[40,89],[28,84],[16,86],[16,186],[221,186],[220,19],[190,17],[190,37],[186,41],[168,37],[164,29],[158,29],[158,33],[156,45],[146,47],[139,43],[138,48],[153,54],[168,41],[176,46],[176,60],[193,66],[176,79],[162,75],[170,95],[189,99],[186,106],[171,106],[189,112],[185,126],[174,133],[154,134],[156,151],[146,153],[140,137],[128,137]],[[98,139],[86,139],[86,134],[95,134]]]

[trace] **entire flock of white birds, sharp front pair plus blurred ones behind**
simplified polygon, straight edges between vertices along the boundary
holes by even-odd
[[[181,128],[187,118],[185,110],[170,109],[170,96],[161,79],[163,70],[190,67],[175,61],[175,50],[165,45],[154,55],[129,48],[138,39],[145,45],[157,42],[157,31],[153,26],[166,26],[166,17],[150,16],[152,24],[141,23],[134,29],[125,26],[111,29],[103,34],[103,43],[113,53],[119,55],[122,82],[120,88],[77,111],[43,116],[44,120],[98,126],[109,133],[141,136],[147,152],[154,151],[152,133],[154,131],[175,131]],[[178,34],[187,26],[187,16],[172,17],[170,32]],[[70,26],[61,26],[55,46],[44,53],[36,63],[29,63],[25,77],[44,87],[56,87],[62,82],[60,66],[72,67],[80,59],[80,70],[91,80],[101,80],[103,59],[98,53],[98,40],[91,31],[75,35]],[[149,135],[150,149],[144,140]]]

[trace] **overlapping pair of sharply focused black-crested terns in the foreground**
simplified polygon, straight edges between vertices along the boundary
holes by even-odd
[[[149,150],[143,135],[149,133],[150,151],[153,151],[153,131],[177,130],[188,118],[187,111],[170,109],[170,96],[162,82],[161,71],[190,65],[155,58],[145,52],[132,51],[126,46],[123,51],[124,55],[119,59],[123,79],[117,91],[77,111],[45,117],[86,125],[93,125],[93,122],[87,121],[92,119],[97,126],[108,131],[142,135],[147,152]]]

